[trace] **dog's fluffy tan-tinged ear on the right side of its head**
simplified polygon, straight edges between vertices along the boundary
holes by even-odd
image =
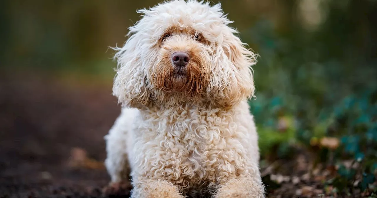
[[[214,69],[218,76],[217,103],[221,106],[232,106],[242,100],[254,96],[254,80],[252,65],[256,64],[256,56],[247,49],[239,37],[234,35],[237,31],[228,27],[222,43],[215,49]],[[216,68],[217,67],[217,68]],[[215,84],[216,84],[215,83]]]

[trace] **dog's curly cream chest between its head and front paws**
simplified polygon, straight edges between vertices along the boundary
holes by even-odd
[[[148,124],[139,127],[136,150],[143,157],[135,161],[138,172],[167,179],[187,192],[208,189],[244,170],[241,155],[247,152],[239,140],[245,130],[237,127],[233,114],[166,115],[146,117]]]

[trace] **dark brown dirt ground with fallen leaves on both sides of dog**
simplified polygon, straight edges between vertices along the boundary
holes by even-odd
[[[111,81],[89,82],[0,77],[0,198],[129,196],[129,184],[118,192],[106,187],[103,136],[120,113]],[[268,197],[321,197],[332,170],[310,177],[309,160],[302,152],[262,166]]]

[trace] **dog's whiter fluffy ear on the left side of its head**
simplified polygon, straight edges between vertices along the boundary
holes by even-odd
[[[149,91],[146,87],[146,73],[141,51],[138,48],[138,33],[129,37],[122,48],[113,48],[118,62],[113,84],[113,95],[126,107],[146,106]]]

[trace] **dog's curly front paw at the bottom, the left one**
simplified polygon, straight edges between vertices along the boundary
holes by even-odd
[[[173,183],[165,180],[139,180],[133,186],[131,198],[184,198]]]

